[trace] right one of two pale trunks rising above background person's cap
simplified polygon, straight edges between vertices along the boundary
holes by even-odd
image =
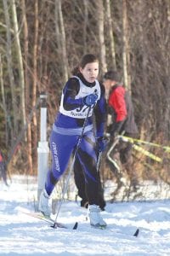
[[[111,50],[109,51],[109,55],[111,55],[112,68],[116,70],[116,50],[115,50],[115,40],[113,36],[113,27],[112,27],[113,18],[111,18],[110,0],[106,0],[106,15],[107,15],[107,22],[109,26],[109,39],[110,39],[110,45],[111,45]]]

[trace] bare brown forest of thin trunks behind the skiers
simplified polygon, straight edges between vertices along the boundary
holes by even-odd
[[[169,183],[169,35],[169,0],[1,0],[0,150],[8,172],[37,174],[39,96],[48,95],[49,135],[72,68],[94,53],[99,79],[110,69],[120,74],[142,147],[161,158],[135,151],[133,167],[141,179]]]

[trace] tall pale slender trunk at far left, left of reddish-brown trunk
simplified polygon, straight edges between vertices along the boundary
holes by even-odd
[[[20,49],[19,26],[18,26],[17,14],[16,14],[15,0],[12,0],[12,14],[13,14],[13,22],[14,22],[14,35],[15,35],[16,53],[17,53],[18,64],[19,64],[20,102],[21,102],[20,110],[21,110],[21,113],[22,113],[23,126],[26,126],[24,67],[23,67],[22,54],[21,54],[21,49]]]

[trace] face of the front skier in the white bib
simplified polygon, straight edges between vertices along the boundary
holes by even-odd
[[[80,67],[80,72],[88,83],[94,83],[99,74],[99,62],[88,63],[85,67]]]

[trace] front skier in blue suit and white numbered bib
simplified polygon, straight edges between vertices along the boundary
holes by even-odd
[[[99,209],[99,181],[97,172],[96,145],[105,149],[103,141],[105,128],[105,87],[97,80],[99,60],[95,55],[83,55],[74,69],[73,77],[65,84],[59,106],[59,113],[50,137],[52,166],[48,170],[45,188],[39,199],[39,211],[49,216],[51,194],[59,178],[65,172],[71,154],[82,136],[76,158],[81,163],[86,179],[89,203],[89,219],[92,226],[106,226]],[[95,115],[95,132],[93,123]],[[82,135],[82,129],[84,132]]]

